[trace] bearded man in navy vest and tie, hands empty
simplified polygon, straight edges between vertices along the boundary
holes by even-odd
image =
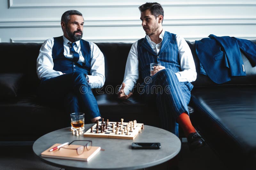
[[[38,93],[45,102],[60,102],[67,112],[83,112],[85,121],[94,123],[101,117],[91,88],[104,85],[104,56],[98,46],[82,39],[83,25],[79,11],[66,11],[61,17],[63,36],[43,43],[37,58]]]

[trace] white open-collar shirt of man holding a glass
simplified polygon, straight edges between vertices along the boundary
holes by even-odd
[[[159,38],[162,40],[164,37],[164,32],[165,31],[163,30],[162,33],[159,35]],[[146,38],[151,48],[158,55],[162,46],[162,41],[159,44],[156,44],[153,41],[151,41],[148,35],[146,36]],[[182,71],[179,71],[175,74],[180,82],[195,81],[196,66],[195,66],[195,62],[194,62],[191,50],[186,40],[180,37],[179,35],[176,35],[176,41],[179,49],[180,68]],[[134,84],[136,84],[136,81],[139,78],[139,60],[138,60],[137,45],[138,45],[138,41],[132,44],[132,48],[129,52],[129,55],[126,61],[124,81],[123,81],[125,83],[125,87],[124,87],[125,95],[128,95],[132,91]],[[119,91],[121,87],[119,88]]]

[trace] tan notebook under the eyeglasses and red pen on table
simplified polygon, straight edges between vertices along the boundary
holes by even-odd
[[[48,157],[48,158],[60,158],[60,159],[73,159],[73,160],[83,160],[83,161],[89,161],[92,159],[94,155],[96,155],[100,151],[100,147],[98,146],[92,146],[92,148],[87,151],[86,148],[84,148],[84,153],[81,155],[78,155],[76,153],[75,149],[64,149],[61,148],[60,150],[56,149],[55,151],[50,152],[49,150],[52,149],[55,146],[59,146],[61,144],[54,144],[50,148],[46,149],[44,152],[41,153],[42,157]],[[66,148],[77,148],[81,145],[65,145]]]

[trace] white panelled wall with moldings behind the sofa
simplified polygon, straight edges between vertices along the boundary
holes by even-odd
[[[0,0],[2,42],[43,42],[62,35],[63,12],[75,9],[84,16],[83,39],[93,42],[135,42],[145,36],[138,7],[143,0]],[[234,36],[256,39],[256,1],[159,0],[166,31],[194,41]]]

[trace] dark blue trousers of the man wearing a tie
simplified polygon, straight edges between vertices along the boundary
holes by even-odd
[[[68,113],[83,112],[85,120],[100,116],[97,101],[82,72],[42,78],[38,95],[47,103],[56,105],[58,101]]]

